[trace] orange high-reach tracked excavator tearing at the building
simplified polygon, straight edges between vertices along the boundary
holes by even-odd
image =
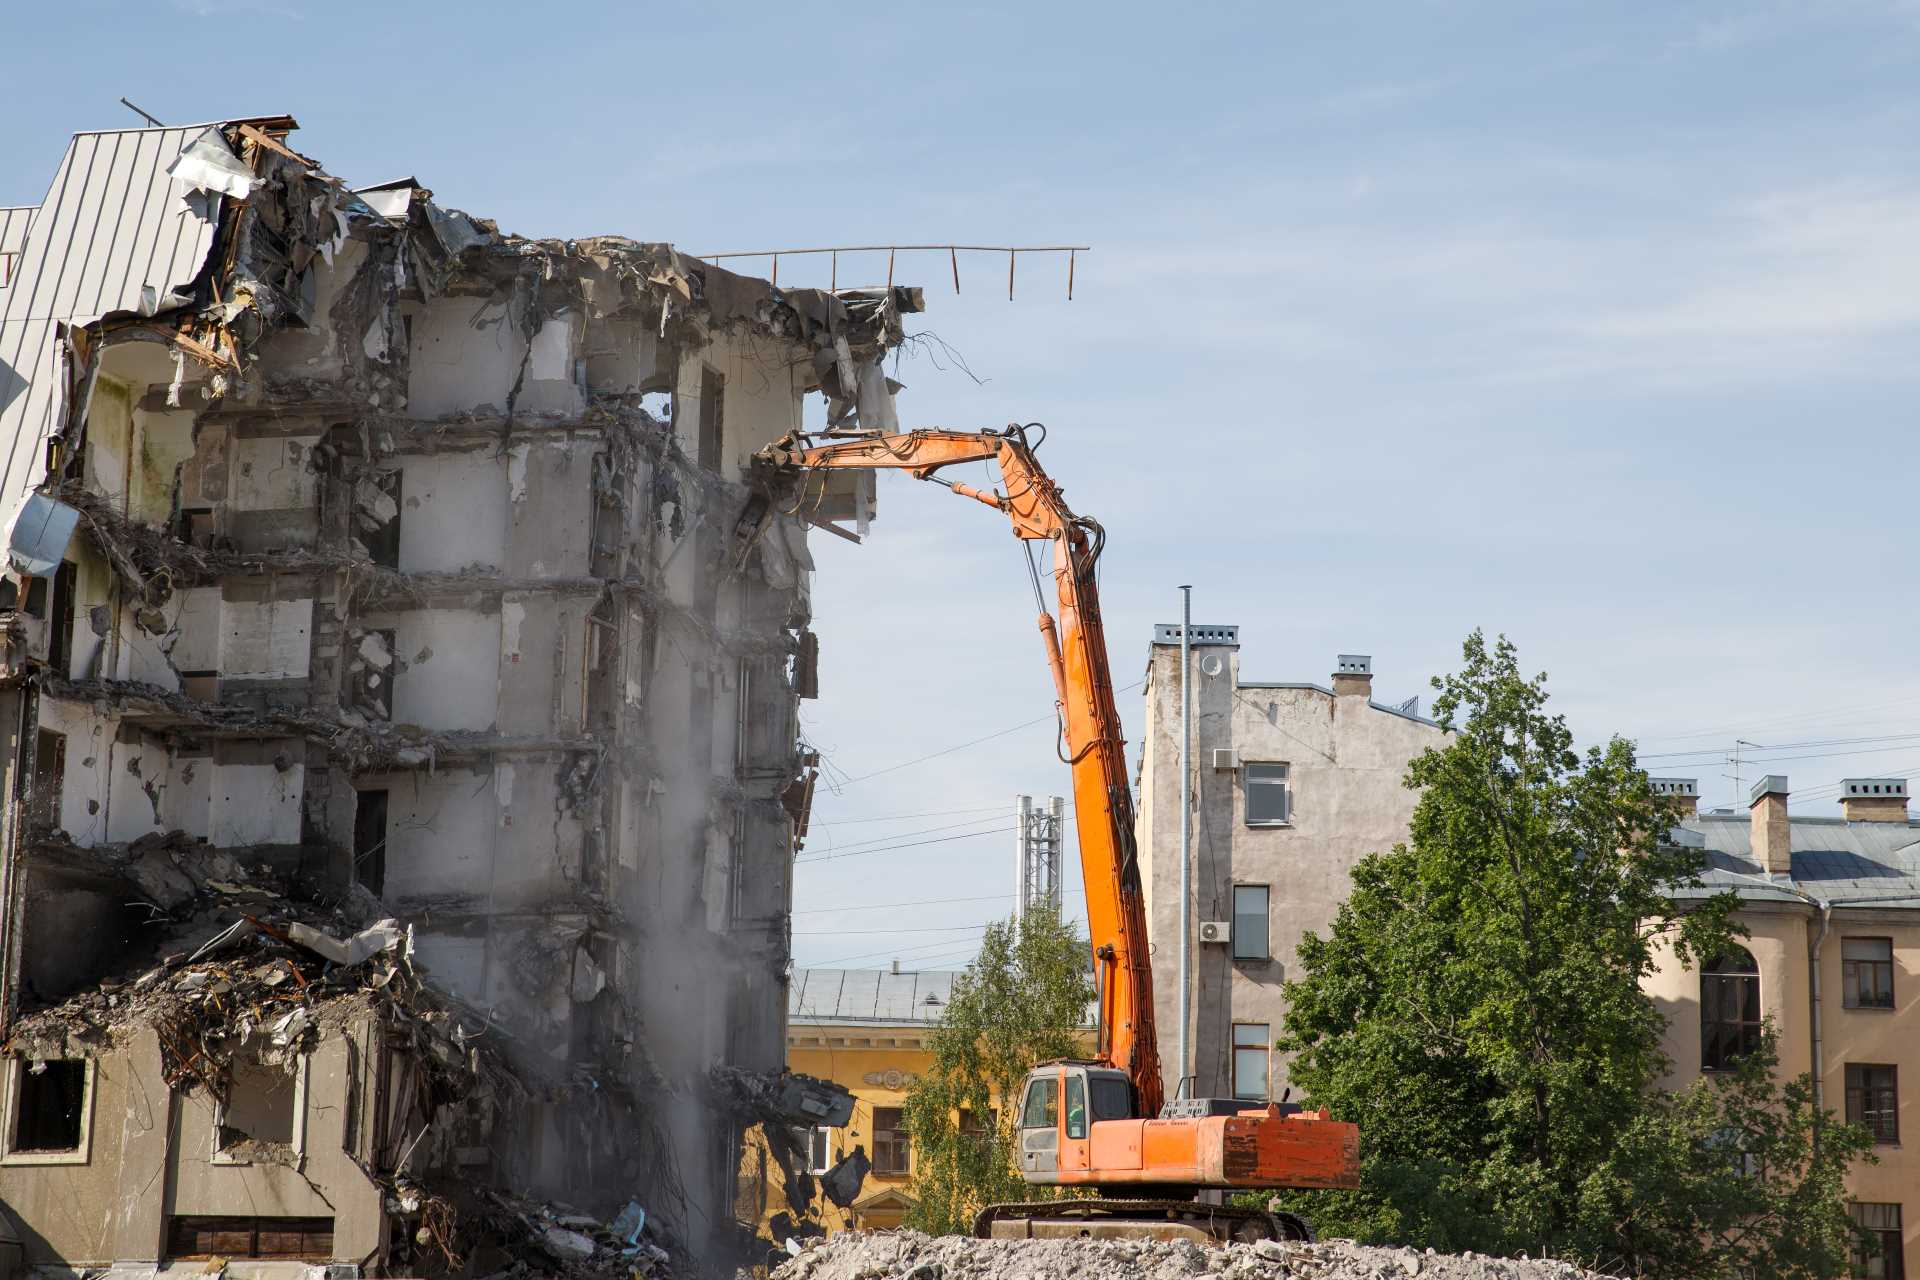
[[[1029,1184],[1089,1188],[1096,1196],[989,1205],[973,1234],[1213,1244],[1311,1238],[1296,1215],[1223,1203],[1225,1194],[1357,1186],[1359,1130],[1354,1125],[1332,1121],[1325,1111],[1275,1103],[1162,1100],[1133,793],[1094,578],[1106,533],[1098,522],[1073,514],[1060,486],[1041,470],[1039,441],[1029,436],[1035,426],[839,438],[791,434],[762,449],[756,468],[770,503],[787,510],[818,501],[824,493],[820,472],[902,470],[993,507],[1012,522],[1014,537],[1027,543],[1066,762],[1073,770],[1100,1021],[1098,1052],[1091,1061],[1043,1063],[1027,1075],[1018,1111],[1018,1157]],[[998,464],[1004,491],[939,474],[983,461]],[[1041,591],[1033,543],[1052,543],[1052,612]]]

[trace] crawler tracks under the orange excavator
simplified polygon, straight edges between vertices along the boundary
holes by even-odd
[[[1292,1213],[1208,1205],[1198,1199],[1037,1199],[987,1205],[973,1219],[977,1240],[1192,1240],[1254,1244],[1313,1240]]]

